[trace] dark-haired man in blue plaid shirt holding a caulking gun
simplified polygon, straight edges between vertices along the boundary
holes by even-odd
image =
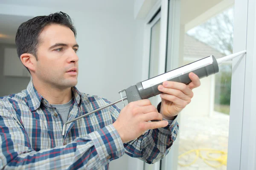
[[[169,152],[177,114],[200,85],[193,73],[189,85],[163,82],[158,110],[148,99],[122,111],[113,105],[68,124],[62,136],[65,122],[109,103],[75,87],[79,45],[70,17],[60,12],[22,23],[16,46],[32,81],[0,99],[1,169],[108,169],[124,153],[155,163]]]

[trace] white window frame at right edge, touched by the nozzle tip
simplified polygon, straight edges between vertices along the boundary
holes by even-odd
[[[227,170],[256,169],[256,0],[236,0]]]

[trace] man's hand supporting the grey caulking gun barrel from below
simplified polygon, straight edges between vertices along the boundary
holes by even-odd
[[[194,73],[189,73],[189,78],[192,80],[188,85],[180,82],[163,82],[163,85],[158,86],[158,90],[162,91],[160,94],[162,103],[160,113],[163,118],[173,120],[174,117],[180,113],[191,102],[193,97],[193,88],[201,85],[200,79]]]

